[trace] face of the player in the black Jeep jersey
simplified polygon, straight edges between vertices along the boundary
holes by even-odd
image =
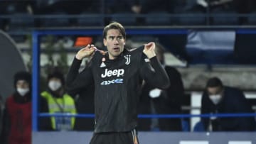
[[[107,47],[110,60],[114,60],[124,51],[125,39],[117,29],[107,31],[103,43]]]

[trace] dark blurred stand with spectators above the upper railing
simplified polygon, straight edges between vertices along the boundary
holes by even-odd
[[[1,13],[55,13],[63,11],[68,14],[87,13],[151,13],[166,11],[175,13],[183,11],[214,11],[215,9],[250,13],[255,11],[253,0],[1,0]]]

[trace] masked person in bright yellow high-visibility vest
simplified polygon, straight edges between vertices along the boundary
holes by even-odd
[[[44,109],[44,111],[41,112],[77,113],[73,97],[65,92],[65,80],[63,74],[61,72],[54,71],[48,74],[47,82],[48,89],[42,92],[41,96],[42,99],[47,101],[48,109]],[[46,106],[41,105],[41,107]],[[71,131],[75,126],[75,117],[52,116],[50,117],[50,123],[41,123],[40,126],[40,129],[44,131]]]

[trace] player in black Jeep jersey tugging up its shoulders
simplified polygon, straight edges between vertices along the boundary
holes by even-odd
[[[110,23],[103,31],[107,52],[87,45],[75,55],[68,72],[69,92],[95,84],[95,131],[91,144],[139,143],[135,128],[142,79],[155,87],[169,87],[169,78],[156,59],[155,43],[126,50],[125,40],[124,27]],[[91,56],[89,66],[79,73],[82,59]]]

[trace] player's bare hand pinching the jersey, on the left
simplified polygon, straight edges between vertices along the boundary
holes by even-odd
[[[82,48],[78,51],[78,53],[75,55],[75,58],[82,60],[85,57],[90,57],[94,54],[95,50],[97,50],[95,45],[87,45],[85,48]]]

